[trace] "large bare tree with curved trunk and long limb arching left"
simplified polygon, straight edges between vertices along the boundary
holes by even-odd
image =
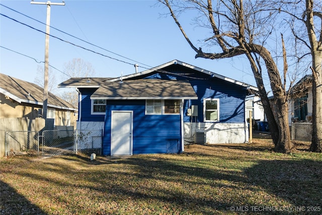
[[[227,58],[227,57],[233,57],[241,54],[246,54],[246,56],[250,61],[253,74],[257,83],[257,87],[259,89],[259,94],[262,99],[262,103],[266,112],[272,139],[275,145],[275,151],[289,153],[290,150],[292,149],[292,143],[290,140],[290,131],[288,127],[288,114],[287,114],[288,104],[287,104],[285,90],[283,90],[283,83],[281,81],[279,71],[277,69],[277,66],[270,52],[263,45],[257,45],[252,43],[254,41],[253,40],[254,35],[250,32],[253,32],[253,30],[247,28],[248,26],[245,24],[244,18],[250,18],[250,17],[249,15],[246,15],[244,13],[243,1],[239,0],[238,4],[236,1],[231,1],[231,8],[230,6],[228,6],[229,4],[227,5],[224,4],[225,7],[232,12],[233,18],[230,19],[229,17],[226,17],[226,15],[224,17],[228,18],[230,22],[234,22],[235,20],[234,25],[236,25],[235,31],[230,29],[227,32],[219,31],[219,28],[217,27],[216,22],[214,20],[213,13],[215,11],[212,9],[211,0],[207,1],[208,2],[207,5],[205,4],[205,2],[201,3],[199,1],[192,1],[194,4],[198,6],[198,8],[200,7],[200,10],[203,13],[205,13],[203,9],[207,11],[207,13],[205,14],[208,14],[207,18],[210,22],[211,28],[214,33],[214,37],[212,37],[211,39],[216,40],[216,42],[222,49],[222,53],[205,53],[201,50],[201,48],[197,49],[192,44],[187,34],[185,33],[184,29],[182,28],[179,21],[177,20],[177,17],[174,11],[172,10],[169,4],[169,1],[168,0],[164,0],[164,1],[159,0],[159,1],[165,4],[169,8],[171,16],[174,18],[176,24],[178,25],[185,39],[190,44],[191,48],[197,52],[195,56],[196,58],[203,57],[208,59],[220,59],[220,58]],[[223,1],[221,2],[223,3]],[[215,13],[216,15],[221,16],[220,15],[221,12],[219,13],[217,11]],[[245,31],[245,29],[248,29],[248,30]],[[245,36],[245,32],[247,32],[250,35]],[[235,45],[229,44],[229,42],[226,41],[224,37],[228,37],[235,40],[238,43],[238,46],[236,46],[236,44]],[[255,58],[253,55],[255,56]],[[276,102],[276,104],[273,106],[272,104],[270,104],[270,101],[267,97],[267,92],[264,87],[260,60],[257,58],[258,55],[260,55],[261,58],[264,59],[266,64],[269,79],[271,82],[271,88],[274,95],[274,101]],[[272,110],[272,107],[274,107],[274,111]]]

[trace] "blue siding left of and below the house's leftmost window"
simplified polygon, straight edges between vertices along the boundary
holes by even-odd
[[[78,113],[78,120],[80,121],[91,121],[91,122],[104,122],[105,115],[92,115],[91,114],[91,95],[97,90],[97,88],[83,88],[79,89],[82,93],[82,115],[81,119],[79,119]]]

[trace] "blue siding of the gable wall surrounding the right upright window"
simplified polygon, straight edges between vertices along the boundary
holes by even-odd
[[[194,88],[198,100],[189,100],[184,103],[184,122],[203,122],[203,99],[219,99],[219,122],[223,123],[244,123],[245,122],[245,97],[246,88],[226,82],[218,78],[212,78],[194,69],[190,69],[179,64],[170,65],[163,68],[169,73],[148,74],[137,79],[166,79],[166,80],[186,80]],[[187,109],[191,105],[198,105],[198,117],[187,116]],[[218,122],[214,122],[218,123]]]

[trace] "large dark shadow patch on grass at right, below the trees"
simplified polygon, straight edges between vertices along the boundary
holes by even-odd
[[[294,206],[317,206],[322,202],[322,162],[307,159],[262,160],[244,170],[249,183],[254,183]],[[319,211],[307,211],[320,214]]]

